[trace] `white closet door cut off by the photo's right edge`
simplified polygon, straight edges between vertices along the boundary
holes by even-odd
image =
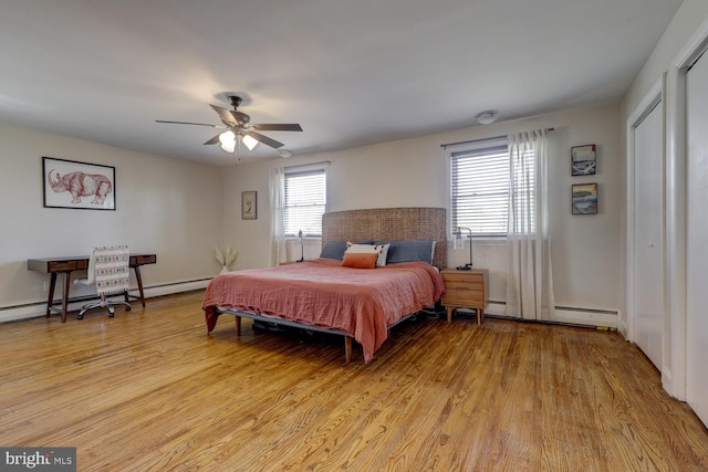
[[[686,399],[708,424],[708,57],[687,75]]]

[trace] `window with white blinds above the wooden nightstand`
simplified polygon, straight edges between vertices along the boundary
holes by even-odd
[[[448,148],[450,159],[450,223],[475,235],[504,237],[509,211],[509,147],[507,139]]]

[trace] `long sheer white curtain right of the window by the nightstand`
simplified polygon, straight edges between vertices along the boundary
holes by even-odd
[[[552,319],[555,306],[548,204],[548,132],[509,135],[508,316]]]

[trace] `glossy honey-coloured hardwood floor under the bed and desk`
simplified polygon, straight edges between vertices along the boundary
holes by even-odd
[[[80,471],[706,471],[708,432],[613,332],[472,316],[207,336],[201,292],[0,325],[0,445]]]

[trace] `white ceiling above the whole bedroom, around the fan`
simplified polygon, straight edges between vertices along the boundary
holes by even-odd
[[[680,3],[0,0],[0,122],[228,166],[218,130],[155,120],[235,93],[302,155],[617,103]]]

